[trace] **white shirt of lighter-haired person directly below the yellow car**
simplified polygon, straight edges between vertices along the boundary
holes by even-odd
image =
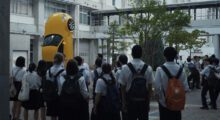
[[[55,76],[60,70],[64,70],[63,66],[62,65],[53,65],[51,68],[50,68],[50,72],[52,74],[52,76]],[[57,82],[58,82],[58,93],[60,94],[61,92],[61,83],[60,83],[60,77],[62,75],[64,75],[65,72],[62,72],[60,73],[58,76],[57,76]],[[53,77],[50,77],[49,76],[49,70],[47,70],[47,74],[46,74],[46,78],[47,80],[50,80],[50,81],[53,81]]]

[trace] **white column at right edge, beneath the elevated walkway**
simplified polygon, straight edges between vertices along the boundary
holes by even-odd
[[[220,42],[219,42],[219,35],[215,35],[212,37],[213,46],[214,46],[214,54],[217,58],[220,58]]]

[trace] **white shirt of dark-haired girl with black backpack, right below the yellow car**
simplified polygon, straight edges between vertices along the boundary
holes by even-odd
[[[74,76],[70,76],[71,79],[74,79]],[[65,78],[64,78],[64,75],[62,75],[60,77],[60,84],[61,84],[61,88],[63,87],[63,83],[65,82]],[[85,79],[84,77],[80,77],[79,80],[79,88],[80,88],[80,92],[82,94],[82,96],[85,98],[85,99],[88,99],[89,98],[89,92],[88,92],[88,89],[86,87],[86,82],[85,82]],[[61,89],[62,90],[62,89]]]

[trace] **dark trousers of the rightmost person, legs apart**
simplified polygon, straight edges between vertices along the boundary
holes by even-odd
[[[216,107],[216,100],[215,100],[215,93],[213,87],[209,87],[208,85],[204,85],[201,91],[201,97],[202,97],[202,105],[204,107],[208,107],[207,105],[207,92],[209,91],[210,99],[211,99],[211,105],[212,107]]]

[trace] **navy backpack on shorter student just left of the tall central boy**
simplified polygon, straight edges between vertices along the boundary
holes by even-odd
[[[118,88],[116,87],[115,78],[110,74],[111,80],[106,80],[104,77],[101,79],[106,84],[106,96],[101,98],[103,111],[106,113],[118,113],[120,111],[120,96]]]

